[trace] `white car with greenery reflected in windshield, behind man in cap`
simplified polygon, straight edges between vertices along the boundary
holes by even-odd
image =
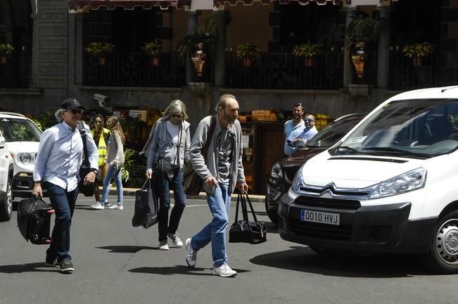
[[[42,131],[24,115],[9,112],[0,112],[0,131],[14,161],[13,198],[28,198],[32,195],[32,174]]]

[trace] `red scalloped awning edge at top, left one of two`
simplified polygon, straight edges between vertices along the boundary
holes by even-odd
[[[108,8],[115,9],[122,7],[125,9],[132,9],[136,6],[151,9],[153,6],[160,6],[160,8],[168,8],[169,6],[190,6],[191,0],[68,0],[68,7],[70,10],[83,9],[89,7],[91,9]]]

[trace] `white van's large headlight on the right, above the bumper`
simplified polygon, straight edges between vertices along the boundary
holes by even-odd
[[[402,175],[387,179],[369,196],[371,198],[382,198],[402,194],[407,191],[423,188],[426,183],[426,169],[419,167],[415,170],[405,172]]]

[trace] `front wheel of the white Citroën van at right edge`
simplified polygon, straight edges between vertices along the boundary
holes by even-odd
[[[458,273],[458,212],[443,217],[435,225],[426,262],[431,270]]]

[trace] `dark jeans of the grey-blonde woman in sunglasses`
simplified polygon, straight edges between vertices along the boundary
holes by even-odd
[[[167,239],[167,233],[177,232],[179,220],[182,218],[184,207],[186,206],[186,195],[183,189],[183,170],[179,170],[172,182],[163,177],[160,172],[155,174],[156,193],[159,198],[158,212],[158,232],[159,241]],[[174,206],[170,214],[170,188],[173,189]]]

